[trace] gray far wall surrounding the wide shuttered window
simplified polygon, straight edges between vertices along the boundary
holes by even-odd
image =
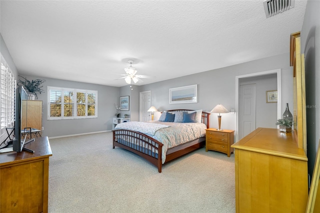
[[[42,100],[42,136],[61,136],[81,134],[87,132],[96,132],[112,129],[112,117],[116,112],[114,103],[119,103],[119,87],[105,86],[92,83],[81,83],[68,80],[59,80],[53,78],[44,78],[38,76],[22,75],[28,80],[44,79],[42,84],[44,93],[37,94],[38,100]],[[58,86],[66,88],[91,89],[98,91],[98,117],[97,118],[80,118],[80,119],[63,119],[48,120],[47,119],[47,86]]]

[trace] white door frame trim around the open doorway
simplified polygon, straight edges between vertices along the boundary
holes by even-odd
[[[239,79],[244,77],[255,77],[276,73],[276,89],[278,93],[277,100],[277,119],[281,118],[281,69],[272,69],[250,74],[235,76],[235,141],[238,141],[238,111],[239,111]]]

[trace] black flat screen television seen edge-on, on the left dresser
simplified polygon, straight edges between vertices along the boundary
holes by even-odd
[[[23,86],[19,85],[19,87],[15,89],[14,138],[12,141],[13,151],[16,151],[16,152],[20,152],[22,150],[34,152],[31,149],[23,147],[24,143],[28,143],[34,140],[33,138],[28,141],[25,141],[25,138],[27,137],[27,135],[23,133],[24,127],[22,127],[22,121],[24,120],[24,123],[26,123],[25,121],[27,118],[26,100],[27,100],[27,93],[24,90]]]

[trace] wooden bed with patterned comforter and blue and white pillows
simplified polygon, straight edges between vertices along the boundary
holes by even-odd
[[[176,120],[174,122],[163,120],[164,113],[174,113]],[[117,146],[138,154],[157,166],[158,172],[161,172],[163,163],[205,145],[205,129],[209,127],[210,113],[190,109],[172,109],[164,113],[160,116],[161,121],[131,121],[117,124],[112,130],[113,148]],[[195,121],[193,123],[187,122],[188,120],[179,122],[181,113],[185,115],[183,119],[195,113]],[[139,125],[148,126],[150,129],[141,130]],[[180,129],[181,132],[177,132],[176,129]],[[175,138],[169,135],[170,132],[174,132]]]

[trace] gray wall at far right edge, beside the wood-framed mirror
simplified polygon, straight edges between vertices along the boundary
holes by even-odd
[[[308,0],[301,29],[305,56],[306,129],[308,171],[313,173],[320,139],[320,1]]]

